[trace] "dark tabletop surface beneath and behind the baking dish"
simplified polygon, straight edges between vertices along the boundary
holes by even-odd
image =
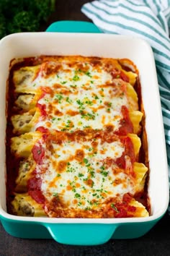
[[[86,0],[56,0],[56,12],[40,30],[57,20],[86,20],[81,6]],[[170,256],[170,216],[166,214],[156,226],[139,239],[110,240],[94,247],[76,247],[51,240],[18,239],[4,231],[0,224],[0,256],[55,255],[154,255]]]

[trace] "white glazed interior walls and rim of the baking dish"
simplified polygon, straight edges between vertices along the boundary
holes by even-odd
[[[150,162],[150,180],[148,194],[151,198],[151,216],[138,218],[147,221],[162,216],[169,202],[168,169],[164,140],[164,126],[161,116],[161,104],[158,93],[156,68],[151,47],[138,38],[122,35],[80,34],[80,33],[19,33],[9,35],[0,42],[0,215],[12,219],[29,217],[11,216],[6,213],[6,168],[5,168],[5,132],[6,132],[6,80],[9,75],[9,62],[14,58],[39,55],[83,55],[113,58],[128,58],[134,61],[140,72],[143,104],[146,111],[146,132],[148,135],[148,154]],[[10,92],[9,92],[10,95]],[[10,161],[10,160],[9,160]],[[34,218],[44,220],[42,218]],[[54,220],[45,219],[45,222]],[[61,220],[55,220],[55,222]],[[69,220],[62,222],[101,222],[117,223],[112,220]],[[121,219],[121,222],[134,221]],[[135,219],[136,221],[136,219]]]

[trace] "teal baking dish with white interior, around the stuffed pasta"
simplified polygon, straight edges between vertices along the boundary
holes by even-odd
[[[4,229],[12,236],[32,239],[53,238],[63,244],[96,245],[109,239],[130,239],[143,236],[164,215],[169,202],[168,168],[164,126],[158,93],[156,67],[151,47],[130,36],[94,33],[18,33],[0,42],[0,216]],[[6,80],[9,61],[16,57],[45,55],[83,55],[128,58],[140,72],[143,105],[146,111],[146,132],[150,179],[148,195],[151,216],[146,218],[70,219],[32,218],[6,213]]]

